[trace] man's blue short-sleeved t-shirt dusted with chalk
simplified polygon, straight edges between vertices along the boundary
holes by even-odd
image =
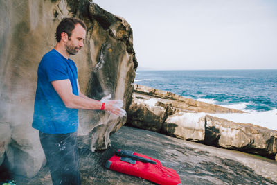
[[[51,82],[69,79],[78,96],[77,67],[55,49],[46,53],[37,69],[33,127],[46,134],[67,134],[78,129],[78,109],[65,107]]]

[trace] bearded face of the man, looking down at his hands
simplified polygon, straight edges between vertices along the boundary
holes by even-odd
[[[84,46],[85,37],[86,30],[80,24],[76,24],[72,30],[71,37],[69,37],[65,44],[67,53],[75,55]]]

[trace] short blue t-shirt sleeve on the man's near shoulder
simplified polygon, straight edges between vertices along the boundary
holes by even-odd
[[[66,62],[59,57],[44,59],[44,71],[49,82],[69,79]]]

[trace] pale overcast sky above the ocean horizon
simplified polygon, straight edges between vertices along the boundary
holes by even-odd
[[[277,69],[276,0],[93,2],[131,25],[138,69]]]

